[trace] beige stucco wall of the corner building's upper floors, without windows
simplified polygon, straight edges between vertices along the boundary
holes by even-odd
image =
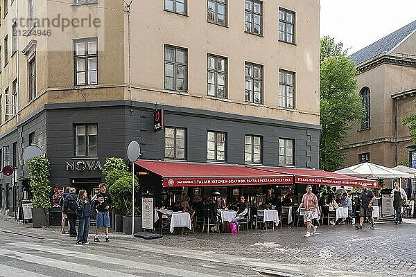
[[[9,34],[10,49],[12,22],[26,18],[28,12],[27,3],[17,2],[1,19],[1,39]],[[0,73],[2,94],[19,77],[18,112],[5,116],[3,96],[0,133],[8,132],[45,103],[108,100],[137,100],[319,125],[319,1],[262,4],[263,35],[252,35],[244,32],[243,0],[228,2],[226,27],[207,22],[206,1],[189,1],[187,15],[164,10],[164,1],[148,1],[146,5],[134,2],[130,26],[123,1],[98,1],[85,6],[71,1],[36,1],[37,19],[92,17],[100,19],[101,24],[35,28],[51,30],[49,37],[18,35],[18,51],[8,65],[4,66],[3,60]],[[279,42],[279,7],[295,12],[295,44]],[[17,28],[19,32],[27,29],[19,21]],[[85,37],[98,37],[98,84],[74,86],[73,39]],[[187,49],[187,93],[164,90],[166,44]],[[22,53],[24,49],[28,53]],[[227,57],[227,99],[207,96],[208,53]],[[28,59],[33,54],[36,96],[29,101]],[[245,62],[263,66],[261,105],[244,101]],[[279,107],[279,69],[295,72],[295,109]]]

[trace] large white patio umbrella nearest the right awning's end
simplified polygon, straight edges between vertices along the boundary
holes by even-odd
[[[413,174],[406,172],[401,172],[399,170],[393,170],[385,166],[380,166],[375,163],[359,163],[355,166],[350,166],[349,168],[344,168],[334,171],[335,173],[340,173],[343,175],[349,175],[354,177],[361,178],[381,178],[381,179],[391,179],[391,178],[413,178]]]

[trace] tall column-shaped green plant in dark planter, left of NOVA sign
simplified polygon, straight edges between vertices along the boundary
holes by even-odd
[[[49,208],[51,208],[51,181],[49,181],[50,163],[46,157],[33,157],[28,160],[30,186],[33,193],[33,227],[49,226]]]

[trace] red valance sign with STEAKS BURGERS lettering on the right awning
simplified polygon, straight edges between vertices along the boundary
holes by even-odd
[[[377,188],[379,186],[379,182],[374,180],[336,179],[307,176],[296,176],[295,183],[325,186],[361,186],[363,184],[366,184],[370,188]]]

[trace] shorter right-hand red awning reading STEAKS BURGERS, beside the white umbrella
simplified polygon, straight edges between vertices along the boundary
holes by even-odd
[[[352,176],[342,175],[324,170],[313,170],[306,168],[269,168],[269,167],[252,167],[257,170],[268,172],[277,172],[286,175],[292,175],[297,184],[327,185],[327,186],[361,186],[367,184],[370,188],[379,186],[379,181],[370,179],[360,179]]]

